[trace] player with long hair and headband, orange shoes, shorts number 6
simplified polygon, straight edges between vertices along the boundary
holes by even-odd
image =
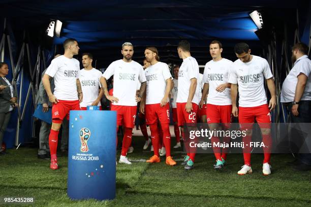
[[[170,108],[169,94],[173,87],[172,75],[166,63],[160,62],[155,47],[145,49],[146,60],[150,66],[146,68],[146,93],[140,103],[140,112],[146,113],[146,124],[150,126],[151,142],[154,155],[147,162],[160,162],[158,121],[163,131],[163,143],[166,149],[166,164],[176,165],[171,157]]]

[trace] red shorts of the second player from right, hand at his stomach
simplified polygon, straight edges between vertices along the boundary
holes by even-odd
[[[218,106],[207,103],[206,109],[207,123],[224,123],[229,127],[232,119],[232,105]]]

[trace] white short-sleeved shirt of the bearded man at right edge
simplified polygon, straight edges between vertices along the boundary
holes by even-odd
[[[281,102],[294,101],[298,82],[297,76],[300,73],[303,73],[308,77],[304,92],[300,100],[311,100],[311,60],[307,55],[303,55],[296,60],[294,67],[283,82]]]

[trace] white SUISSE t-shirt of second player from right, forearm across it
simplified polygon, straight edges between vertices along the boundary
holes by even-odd
[[[216,87],[227,83],[232,61],[221,59],[219,61],[210,60],[205,64],[203,82],[208,83],[207,103],[217,106],[231,105],[230,88],[223,92],[217,92]]]

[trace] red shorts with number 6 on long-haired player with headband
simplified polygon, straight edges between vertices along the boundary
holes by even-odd
[[[145,106],[146,124],[158,123],[161,124],[170,123],[170,105],[167,104],[164,107],[160,106],[160,103],[147,104]]]

